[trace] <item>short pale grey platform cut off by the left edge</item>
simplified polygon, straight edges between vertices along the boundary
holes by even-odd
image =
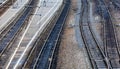
[[[9,9],[0,16],[0,32],[3,28],[9,25],[15,18],[20,14],[20,11],[23,10],[25,5],[29,0],[17,0]]]

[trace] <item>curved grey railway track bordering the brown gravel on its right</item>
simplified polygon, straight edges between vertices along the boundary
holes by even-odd
[[[99,42],[91,29],[89,21],[89,3],[82,0],[80,31],[85,44],[91,67],[93,69],[109,68],[111,66],[108,57],[105,56]]]

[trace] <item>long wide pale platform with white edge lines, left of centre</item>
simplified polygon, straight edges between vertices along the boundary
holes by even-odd
[[[26,55],[30,52],[35,40],[40,35],[45,26],[49,23],[54,13],[62,5],[63,0],[49,0],[46,3],[43,0],[39,0],[38,7],[35,13],[32,14],[32,18],[29,20],[29,24],[26,29],[18,37],[18,40],[13,44],[14,48],[11,57],[6,63],[7,68],[20,67],[25,61]]]

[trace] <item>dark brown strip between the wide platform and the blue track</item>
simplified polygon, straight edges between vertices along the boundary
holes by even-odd
[[[59,12],[57,12],[57,14],[55,13],[54,16],[51,18],[51,20],[49,21],[50,23],[46,26],[46,28],[43,30],[43,32],[40,34],[40,36],[38,37],[38,39],[35,41],[35,43],[33,44],[33,48],[31,49],[31,52],[29,53],[24,65],[22,68],[29,68],[30,67],[33,67],[31,65],[34,64],[34,60],[36,60],[35,58],[37,56],[37,52],[39,53],[39,51],[41,50],[41,46],[44,45],[44,40],[47,40],[48,39],[48,36],[50,35],[50,32],[52,31],[51,29],[53,29],[53,27],[55,26],[55,22],[57,21],[57,19],[59,18],[60,14],[61,14],[61,11],[63,9],[63,6],[61,6],[59,8]],[[52,27],[51,27],[52,26]],[[49,32],[48,32],[49,31]],[[43,38],[43,36],[46,36]],[[41,45],[41,46],[40,46]],[[38,46],[39,49],[38,49]],[[36,50],[37,49],[37,50]],[[33,53],[35,52],[34,54],[34,57],[33,57]],[[33,57],[33,59],[31,60],[31,57]],[[30,62],[31,61],[31,62]],[[27,67],[28,66],[28,67]]]

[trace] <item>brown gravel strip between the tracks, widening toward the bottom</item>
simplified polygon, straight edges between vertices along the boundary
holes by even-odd
[[[76,9],[77,0],[72,0],[72,9]],[[79,47],[75,34],[75,14],[70,9],[59,49],[57,69],[88,69],[83,47]],[[73,26],[72,26],[73,25]]]

